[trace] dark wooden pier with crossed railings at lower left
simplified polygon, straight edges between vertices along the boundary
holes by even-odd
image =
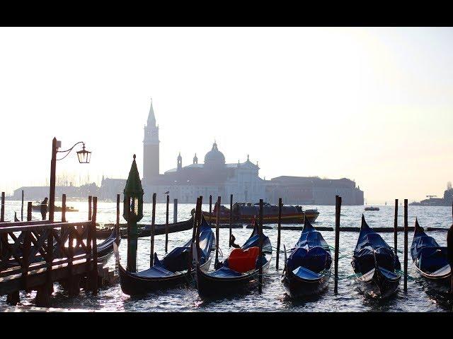
[[[38,307],[49,307],[53,284],[69,293],[80,288],[96,295],[99,285],[113,279],[98,263],[96,239],[97,199],[93,198],[91,220],[84,222],[0,222],[0,295],[8,304],[18,304],[19,291],[37,291]]]

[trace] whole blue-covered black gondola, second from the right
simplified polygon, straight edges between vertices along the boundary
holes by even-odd
[[[401,269],[398,256],[384,239],[374,232],[362,214],[359,239],[352,256],[352,268],[358,276],[355,280],[362,292],[373,299],[384,299],[398,290]]]

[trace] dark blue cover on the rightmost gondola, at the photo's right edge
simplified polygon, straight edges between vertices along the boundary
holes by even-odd
[[[433,273],[448,265],[447,247],[439,246],[433,237],[429,237],[418,225],[417,219],[415,219],[411,256],[415,266],[426,273]]]

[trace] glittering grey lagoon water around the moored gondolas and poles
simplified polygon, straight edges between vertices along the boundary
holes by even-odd
[[[59,205],[59,203],[57,203]],[[74,206],[80,210],[79,213],[67,213],[69,221],[79,221],[87,218],[88,203],[69,202],[68,206]],[[26,207],[26,206],[25,206]],[[121,206],[122,207],[122,206]],[[156,206],[156,223],[165,223],[165,204]],[[178,206],[178,220],[190,218],[190,210],[194,208],[191,204],[180,204]],[[305,208],[319,209],[320,215],[315,226],[335,226],[335,206],[304,206]],[[394,225],[394,206],[379,206],[379,211],[365,212],[365,218],[371,227],[393,227]],[[173,220],[173,206],[170,206],[170,220]],[[209,206],[203,206],[204,210],[209,210]],[[20,218],[21,202],[6,201],[6,220],[13,220],[14,210]],[[403,226],[403,206],[399,206],[398,225]],[[343,206],[341,208],[341,226],[360,227],[360,218],[364,213],[363,206]],[[25,213],[26,214],[26,213]],[[144,218],[141,223],[151,222],[151,204],[144,205]],[[409,226],[413,226],[415,217],[422,227],[445,227],[452,225],[452,210],[450,207],[422,207],[409,206],[408,220]],[[60,213],[56,213],[56,220],[61,218]],[[40,213],[33,213],[33,220],[40,219]],[[115,203],[98,203],[98,222],[115,222],[116,208]],[[121,217],[122,222],[124,220]],[[276,225],[275,225],[276,227]],[[224,256],[229,253],[228,248],[228,229],[220,229],[219,247]],[[277,246],[277,230],[264,230],[270,237],[273,246]],[[250,229],[233,229],[237,244],[243,244],[251,234]],[[282,245],[287,249],[297,242],[300,231],[283,230]],[[333,246],[335,244],[335,232],[322,232],[326,242]],[[390,245],[394,244],[393,233],[380,233],[384,240]],[[447,242],[447,232],[428,232],[435,237],[441,246]],[[187,242],[192,236],[192,231],[183,231],[168,235],[168,249],[180,246]],[[340,258],[339,275],[351,275],[350,258],[352,250],[357,242],[358,232],[342,232],[340,234]],[[412,241],[412,233],[409,233],[409,249]],[[143,270],[149,268],[149,237],[139,239],[138,268]],[[165,235],[156,236],[154,250],[159,258],[164,256]],[[122,239],[120,244],[120,254],[122,264],[125,266],[127,241]],[[283,247],[283,246],[282,246]],[[398,249],[403,251],[403,232],[398,232]],[[280,271],[275,270],[275,251],[273,261],[270,263],[268,276],[264,279],[263,293],[258,294],[258,289],[252,290],[248,295],[237,295],[217,301],[204,302],[193,287],[180,287],[165,292],[156,292],[147,297],[135,298],[124,295],[121,292],[120,284],[113,287],[106,287],[98,292],[96,297],[87,297],[81,292],[79,297],[69,298],[64,295],[58,284],[55,284],[55,293],[52,307],[62,309],[83,309],[96,311],[446,311],[448,308],[443,306],[435,299],[432,299],[425,292],[423,285],[418,280],[408,280],[408,292],[403,292],[403,280],[401,280],[400,290],[393,298],[384,302],[374,302],[366,299],[355,288],[353,280],[343,279],[338,282],[338,295],[333,294],[333,280],[328,290],[319,297],[313,299],[293,302],[285,295],[285,289],[280,283],[280,272],[284,255],[280,254]],[[403,254],[399,254],[401,268],[403,268]],[[110,256],[107,266],[115,268],[115,258]],[[211,270],[213,268],[211,265]],[[413,278],[419,278],[411,263],[409,254],[408,274]],[[35,292],[28,295],[21,295],[22,305],[33,305]],[[2,297],[1,306],[6,304],[6,297]]]

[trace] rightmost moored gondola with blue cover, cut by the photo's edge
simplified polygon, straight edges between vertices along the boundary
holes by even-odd
[[[429,237],[415,219],[411,244],[411,256],[415,269],[425,278],[428,287],[435,292],[449,292],[452,270],[447,259],[447,247],[439,246]]]

